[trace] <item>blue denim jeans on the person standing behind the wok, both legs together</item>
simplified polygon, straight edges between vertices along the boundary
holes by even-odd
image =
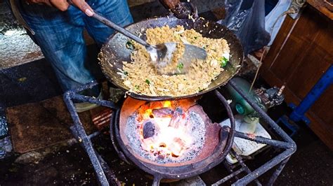
[[[62,12],[45,5],[28,5],[25,0],[21,2],[22,17],[34,31],[32,39],[51,62],[63,90],[95,80],[87,59],[83,31],[86,29],[100,47],[114,30],[73,6]],[[87,0],[87,3],[117,24],[125,26],[133,22],[126,0]]]

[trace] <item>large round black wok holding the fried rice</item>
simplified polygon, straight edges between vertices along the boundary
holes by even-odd
[[[218,24],[216,22],[209,22],[201,18],[195,21],[190,19],[178,19],[173,16],[168,17],[158,17],[151,18],[149,20],[144,20],[129,25],[126,29],[129,31],[141,35],[141,38],[145,39],[145,30],[148,28],[162,27],[164,25],[169,25],[169,27],[176,27],[176,25],[182,25],[185,29],[195,29],[195,31],[200,32],[204,37],[208,38],[225,38],[229,43],[230,47],[230,60],[228,64],[224,67],[226,69],[220,75],[217,76],[216,80],[213,80],[207,89],[202,90],[196,94],[188,94],[185,96],[147,96],[141,94],[135,94],[131,92],[129,96],[135,99],[143,99],[149,101],[159,101],[159,100],[171,100],[171,99],[183,99],[192,96],[198,96],[204,94],[211,90],[221,87],[228,83],[228,80],[233,78],[235,74],[240,70],[242,66],[242,61],[244,58],[244,53],[242,50],[242,45],[238,41],[237,37],[232,31],[228,30],[226,27]],[[139,34],[141,33],[141,34]],[[112,35],[107,43],[103,45],[99,59],[101,69],[106,76],[107,80],[117,85],[117,87],[122,88],[127,91],[129,88],[123,84],[122,76],[117,72],[122,69],[122,62],[131,62],[130,53],[132,50],[126,48],[126,43],[129,38],[126,36],[116,33]],[[143,74],[143,76],[149,76],[149,74]],[[200,77],[198,77],[200,78]]]

